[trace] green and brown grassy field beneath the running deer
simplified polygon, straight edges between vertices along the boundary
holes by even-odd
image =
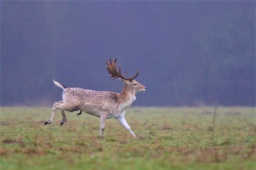
[[[130,108],[99,136],[99,118],[49,108],[4,107],[1,170],[256,170],[256,108]],[[78,112],[77,112],[78,113]],[[214,133],[213,133],[214,132]]]

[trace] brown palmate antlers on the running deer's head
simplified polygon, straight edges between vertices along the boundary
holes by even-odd
[[[117,77],[120,77],[122,79],[125,79],[125,80],[130,80],[130,82],[135,79],[138,74],[139,74],[139,71],[137,70],[137,73],[133,76],[133,77],[125,77],[127,72],[125,72],[125,75],[123,76],[122,73],[121,73],[121,68],[120,66],[119,67],[119,71],[117,71],[116,69],[116,58],[113,59],[113,62],[111,62],[111,59],[110,59],[110,63],[108,61],[106,61],[108,67],[108,73],[111,74],[110,77],[113,77],[113,79],[116,79]]]

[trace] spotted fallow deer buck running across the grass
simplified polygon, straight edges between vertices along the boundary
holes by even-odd
[[[45,122],[44,125],[52,123],[55,111],[57,109],[61,110],[63,125],[66,122],[66,116],[64,111],[80,111],[77,115],[82,112],[88,113],[93,116],[98,116],[100,118],[100,135],[103,135],[103,130],[105,128],[106,119],[115,118],[118,120],[131,134],[136,137],[131,127],[125,120],[125,109],[127,109],[132,102],[136,99],[135,94],[140,91],[145,91],[145,86],[141,85],[135,78],[138,76],[139,72],[133,77],[125,77],[121,74],[121,68],[119,66],[119,71],[116,69],[116,59],[113,62],[106,61],[107,69],[110,77],[113,79],[120,78],[124,83],[124,88],[120,94],[109,92],[109,91],[92,91],[82,88],[67,88],[59,82],[53,80],[54,84],[64,91],[62,93],[62,101],[55,102],[52,108],[52,115],[49,121]]]

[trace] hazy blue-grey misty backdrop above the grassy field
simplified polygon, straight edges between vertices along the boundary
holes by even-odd
[[[0,104],[52,105],[67,87],[147,87],[132,106],[255,106],[256,1],[0,1]]]

